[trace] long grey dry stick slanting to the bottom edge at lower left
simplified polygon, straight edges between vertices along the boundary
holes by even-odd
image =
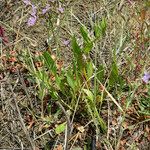
[[[12,94],[13,94],[13,99],[14,99],[15,107],[16,107],[16,110],[17,110],[17,112],[18,112],[18,117],[19,117],[19,120],[20,120],[22,129],[23,129],[23,131],[24,131],[24,133],[25,133],[25,135],[26,135],[28,141],[30,142],[32,149],[34,150],[34,149],[35,149],[35,144],[34,144],[33,140],[30,138],[29,132],[28,132],[28,130],[27,130],[25,124],[24,124],[24,121],[23,121],[22,117],[21,117],[21,113],[20,113],[18,104],[17,104],[17,102],[16,102],[17,96],[16,96],[16,94],[14,93],[13,88],[12,88],[12,86],[10,85],[10,83],[8,83],[8,85],[9,85],[9,88],[10,88]]]

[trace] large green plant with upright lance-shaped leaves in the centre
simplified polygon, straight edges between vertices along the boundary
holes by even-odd
[[[95,36],[91,38],[85,26],[81,26],[80,33],[83,44],[79,45],[75,36],[72,36],[71,44],[73,58],[69,68],[61,67],[58,71],[57,60],[53,60],[51,53],[44,52],[38,59],[43,63],[40,68],[35,68],[34,57],[29,52],[28,65],[32,66],[29,70],[36,79],[38,95],[41,99],[41,111],[44,116],[44,97],[50,94],[51,100],[63,102],[67,109],[80,110],[80,103],[84,103],[84,111],[94,120],[95,126],[101,127],[106,131],[106,124],[100,116],[97,108],[97,98],[101,96],[97,82],[103,80],[104,67],[98,69],[94,67],[94,62],[90,58],[90,51],[93,49],[97,40],[105,35],[106,20],[103,19],[99,24],[95,24]],[[52,79],[53,77],[53,79]],[[96,84],[96,85],[95,85]],[[96,88],[95,88],[96,87]],[[79,101],[79,103],[78,103]],[[87,108],[87,109],[86,109]]]

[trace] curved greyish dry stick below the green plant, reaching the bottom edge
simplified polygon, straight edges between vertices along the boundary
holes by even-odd
[[[62,106],[62,104],[57,101],[56,104],[61,108],[61,110],[63,111],[65,117],[66,117],[66,121],[67,121],[67,127],[66,127],[66,131],[65,131],[65,144],[64,144],[64,150],[68,150],[68,141],[70,138],[70,134],[71,134],[71,122],[70,122],[70,118],[68,117],[68,114],[66,113],[64,107]]]

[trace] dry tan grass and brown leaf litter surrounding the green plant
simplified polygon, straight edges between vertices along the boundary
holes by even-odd
[[[29,27],[27,20],[31,12],[30,6],[21,0],[0,0],[0,27],[5,29],[5,36],[0,34],[0,149],[63,149],[66,133],[56,134],[55,128],[66,121],[65,115],[60,112],[57,114],[59,106],[50,102],[51,115],[45,112],[44,116],[40,116],[38,86],[34,77],[30,76],[30,66],[25,61],[27,53],[30,51],[35,57],[34,64],[37,68],[41,62],[36,61],[36,57],[44,51],[59,57],[67,68],[73,56],[71,44],[66,45],[64,42],[70,41],[72,34],[75,34],[79,43],[82,43],[80,26],[85,25],[92,36],[93,24],[105,17],[106,35],[97,42],[99,53],[96,61],[98,65],[103,64],[109,73],[113,50],[116,50],[119,71],[127,85],[132,85],[131,90],[120,94],[119,104],[125,109],[129,95],[133,103],[126,109],[123,118],[123,114],[112,102],[107,104],[109,97],[106,96],[101,116],[108,128],[106,133],[99,135],[94,131],[92,119],[87,119],[82,115],[82,110],[78,110],[68,149],[149,150],[150,116],[139,114],[141,98],[147,99],[146,105],[150,108],[149,84],[141,80],[144,71],[149,71],[150,67],[149,3],[143,0],[51,1],[52,18],[48,28],[48,15],[41,14],[47,1],[41,0],[41,4],[38,0],[32,2],[39,5],[38,19],[34,26]],[[64,11],[59,11],[59,7]],[[95,60],[94,49],[91,58]],[[109,92],[118,98],[117,92]],[[48,95],[44,98],[46,103],[50,99]],[[66,111],[69,110],[64,107]]]

